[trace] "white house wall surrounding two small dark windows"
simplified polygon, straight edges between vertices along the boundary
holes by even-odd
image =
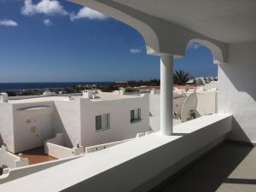
[[[136,137],[149,131],[149,97],[92,102],[81,99],[81,144],[84,147]],[[131,124],[131,110],[141,108],[142,120]],[[96,131],[96,115],[110,113],[110,129]]]

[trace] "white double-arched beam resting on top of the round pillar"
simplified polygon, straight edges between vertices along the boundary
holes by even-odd
[[[161,20],[140,10],[132,9],[113,0],[68,0],[79,3],[102,14],[109,15],[140,32],[146,42],[147,53],[151,55],[184,55],[186,44],[192,39],[212,50],[214,63],[227,61],[228,46],[215,39],[193,32],[175,23]],[[201,40],[205,39],[205,40]],[[217,46],[218,45],[218,46]]]

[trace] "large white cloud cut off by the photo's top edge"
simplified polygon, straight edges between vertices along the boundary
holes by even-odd
[[[32,0],[25,0],[24,6],[21,8],[21,14],[68,15],[67,11],[57,0],[41,0],[37,4],[33,4]]]

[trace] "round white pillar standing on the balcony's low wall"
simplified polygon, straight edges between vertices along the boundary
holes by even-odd
[[[160,56],[160,132],[172,135],[173,55]]]

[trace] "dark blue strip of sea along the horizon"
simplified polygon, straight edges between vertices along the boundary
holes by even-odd
[[[0,91],[3,90],[32,90],[32,89],[53,89],[70,88],[75,85],[108,85],[110,82],[48,82],[48,83],[0,83]]]

